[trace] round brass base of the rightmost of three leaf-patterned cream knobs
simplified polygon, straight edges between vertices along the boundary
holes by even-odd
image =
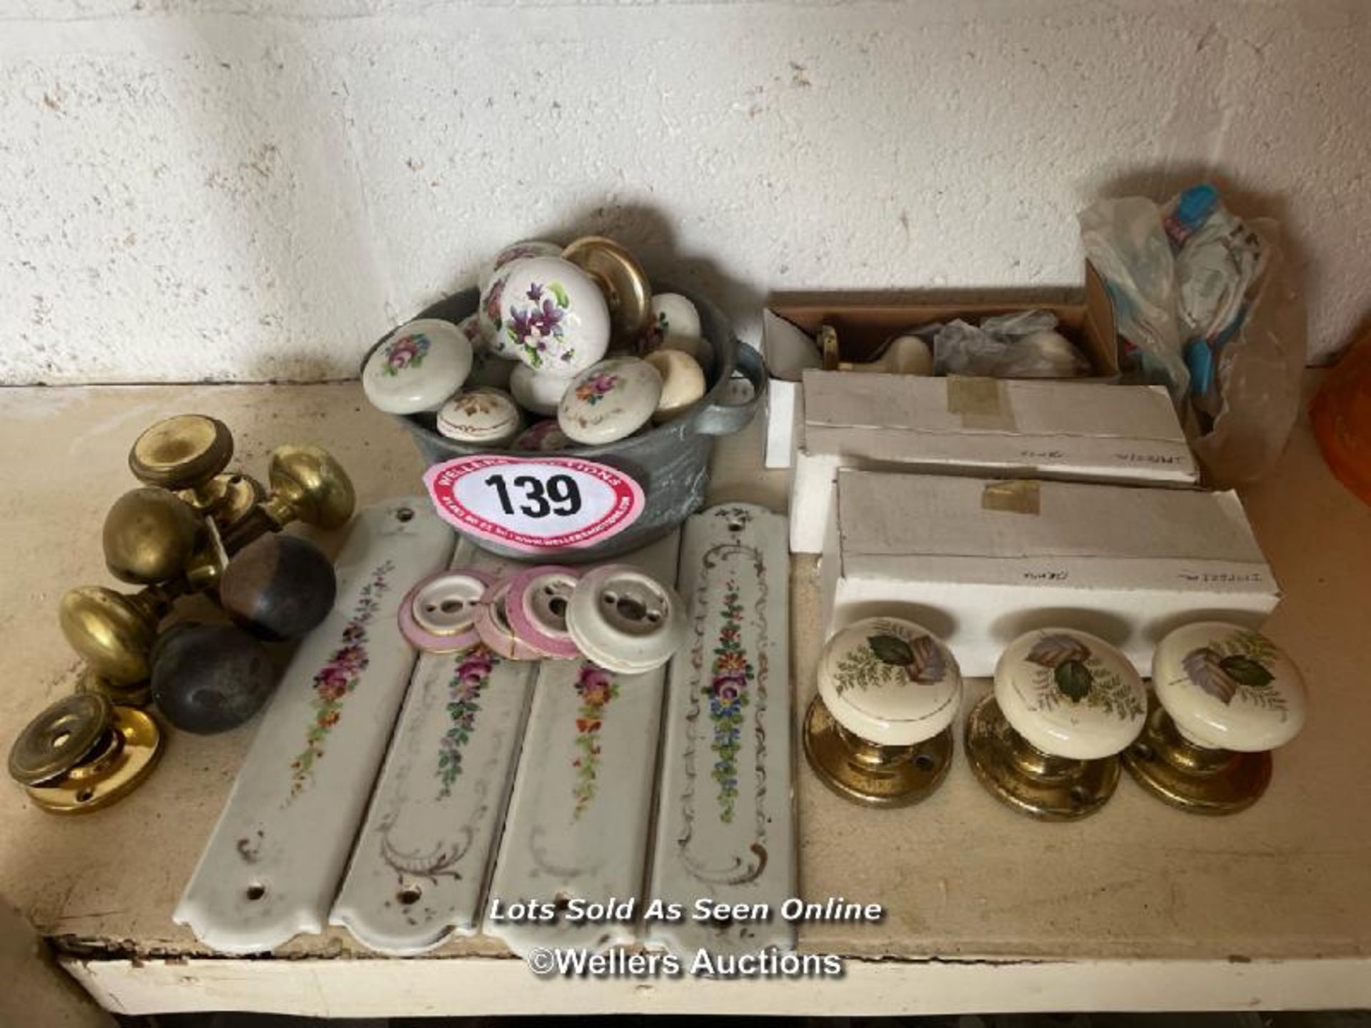
[[[1134,781],[1191,814],[1237,814],[1271,784],[1271,754],[1204,750],[1189,743],[1156,696],[1149,700],[1142,735],[1123,752]]]

